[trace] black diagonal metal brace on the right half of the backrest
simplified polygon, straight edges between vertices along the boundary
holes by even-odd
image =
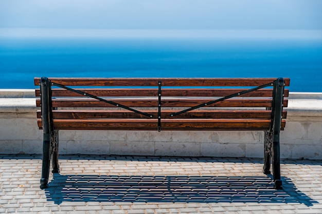
[[[276,81],[274,81],[274,82],[276,82]],[[200,104],[198,106],[193,106],[191,108],[188,108],[188,109],[185,109],[185,110],[182,110],[182,111],[178,111],[178,112],[172,113],[172,114],[170,114],[170,116],[176,116],[176,115],[179,115],[179,114],[182,114],[182,113],[186,113],[188,111],[192,111],[194,109],[202,108],[202,107],[205,107],[205,106],[214,104],[214,103],[218,103],[218,102],[227,100],[229,98],[234,98],[235,96],[239,96],[239,95],[242,95],[242,94],[245,94],[245,93],[249,93],[249,92],[252,92],[252,91],[256,91],[256,90],[261,89],[261,88],[273,86],[274,85],[274,82],[267,83],[265,85],[261,85],[261,86],[258,86],[258,87],[255,87],[255,88],[251,88],[251,89],[248,89],[248,90],[240,91],[238,93],[234,93],[234,94],[231,94],[231,95],[228,95],[228,96],[224,96],[223,98],[220,98],[218,100],[209,101],[207,103],[203,103],[203,104]]]

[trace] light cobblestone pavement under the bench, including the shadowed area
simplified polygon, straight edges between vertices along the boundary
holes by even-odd
[[[0,155],[0,213],[322,213],[321,161],[61,155],[39,188],[41,155]]]

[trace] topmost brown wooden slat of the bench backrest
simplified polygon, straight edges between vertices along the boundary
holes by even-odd
[[[52,82],[65,86],[260,86],[271,83],[276,78],[58,78],[49,77]],[[34,78],[39,85],[40,77]],[[285,86],[290,79],[284,78]]]

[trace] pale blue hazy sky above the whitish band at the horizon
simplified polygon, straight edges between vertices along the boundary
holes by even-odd
[[[322,30],[322,0],[0,0],[0,28]]]

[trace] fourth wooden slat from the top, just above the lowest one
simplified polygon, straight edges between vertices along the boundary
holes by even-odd
[[[145,111],[157,118],[157,111]],[[173,110],[163,110],[161,117],[163,119],[172,118],[170,114]],[[193,110],[187,113],[175,116],[175,119],[270,119],[269,110]],[[145,119],[146,116],[126,111],[126,110],[53,110],[53,119]],[[37,117],[41,118],[41,111],[37,112]],[[283,111],[283,118],[287,117],[287,111]]]

